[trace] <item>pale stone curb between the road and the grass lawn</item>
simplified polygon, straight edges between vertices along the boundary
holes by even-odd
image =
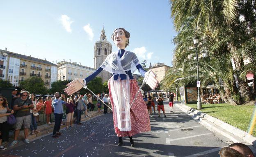
[[[232,126],[226,122],[223,122],[220,119],[217,119],[211,115],[208,115],[207,113],[203,113],[201,111],[198,111],[194,108],[191,108],[189,106],[186,106],[185,104],[176,104],[177,106],[180,106],[181,108],[185,109],[188,113],[190,113],[191,115],[193,115],[194,117],[198,117],[198,119],[203,122],[204,124],[208,125],[210,128],[213,128],[214,130],[217,130],[220,134],[228,137],[229,139],[231,139],[233,142],[239,142],[237,139],[233,138],[232,136],[228,135],[227,133],[225,133],[225,131],[243,139],[245,142],[256,146],[256,137],[254,137],[253,135],[245,132],[244,130],[241,130],[235,126]],[[207,122],[208,121],[208,122]],[[215,126],[213,126],[212,124],[210,124],[209,122],[215,124],[216,126],[224,129],[220,130],[218,128],[216,128]]]

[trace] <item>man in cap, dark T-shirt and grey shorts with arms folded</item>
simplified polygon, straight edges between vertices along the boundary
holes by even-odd
[[[10,147],[14,146],[18,143],[18,135],[20,133],[20,129],[23,126],[24,128],[24,143],[29,143],[30,141],[27,139],[28,131],[30,128],[30,109],[34,108],[34,104],[31,99],[27,98],[28,92],[22,91],[21,97],[16,99],[14,102],[14,111],[16,117],[16,124],[14,124],[14,141],[9,145]]]

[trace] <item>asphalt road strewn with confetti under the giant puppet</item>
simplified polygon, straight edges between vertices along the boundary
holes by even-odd
[[[104,114],[81,126],[64,129],[58,139],[51,135],[29,144],[8,148],[0,157],[219,157],[218,151],[227,146],[224,138],[215,135],[189,115],[174,107],[174,113],[165,101],[167,117],[151,118],[151,132],[128,137],[123,146],[117,146],[112,113]],[[19,141],[19,143],[23,143]]]

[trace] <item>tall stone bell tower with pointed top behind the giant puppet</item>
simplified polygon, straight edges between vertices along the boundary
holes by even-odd
[[[101,31],[100,40],[94,45],[94,68],[98,69],[106,59],[107,55],[112,53],[112,44],[107,41],[104,27]],[[112,74],[107,71],[102,71],[98,77],[102,78],[102,81],[107,81]]]

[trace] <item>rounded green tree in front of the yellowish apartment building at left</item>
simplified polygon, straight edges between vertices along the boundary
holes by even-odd
[[[30,77],[27,80],[21,82],[21,88],[35,94],[47,94],[48,90],[44,86],[43,79],[41,77]]]

